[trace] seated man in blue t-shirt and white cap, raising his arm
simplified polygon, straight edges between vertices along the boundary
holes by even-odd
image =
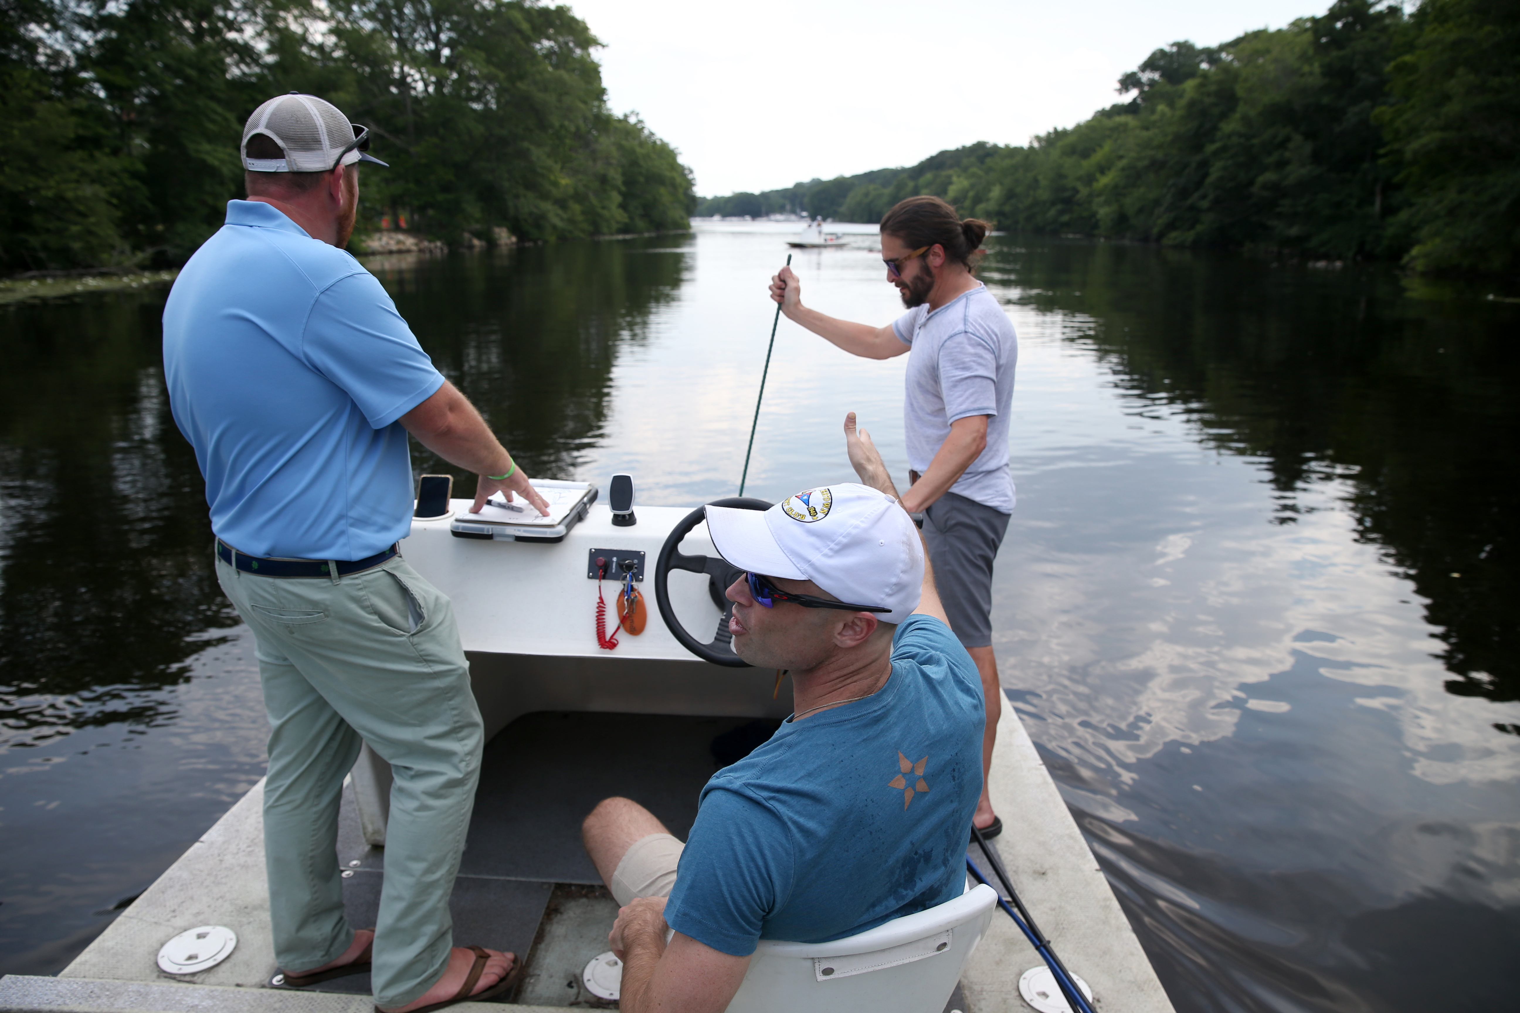
[[[684,846],[629,799],[585,820],[623,905],[611,943],[626,1013],[716,1013],[762,939],[844,939],[964,890],[980,680],[876,448],[853,415],[845,427],[874,488],[707,507],[713,545],[748,571],[728,588],[734,650],[790,670],[792,717],[707,782]]]

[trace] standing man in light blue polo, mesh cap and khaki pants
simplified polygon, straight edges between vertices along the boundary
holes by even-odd
[[[448,598],[406,565],[407,433],[496,491],[547,504],[433,368],[380,282],[342,248],[368,131],[290,93],[243,129],[248,200],[164,307],[175,422],[205,475],[216,571],[254,632],[269,711],[264,857],[286,986],[369,970],[388,1011],[488,998],[512,954],[453,946],[448,896],[480,773],[482,724]],[[391,764],[375,928],[344,917],[344,776],[360,743]]]

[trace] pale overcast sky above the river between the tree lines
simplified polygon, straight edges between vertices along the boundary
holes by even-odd
[[[696,191],[774,190],[1023,144],[1117,100],[1176,39],[1211,46],[1330,0],[568,0],[605,43],[616,112],[637,111]]]

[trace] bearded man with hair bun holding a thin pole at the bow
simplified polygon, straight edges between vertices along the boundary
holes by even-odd
[[[1003,822],[986,791],[1002,712],[993,655],[993,560],[1014,509],[1008,416],[1018,337],[1003,307],[976,279],[988,228],[977,219],[962,220],[939,197],[907,197],[888,211],[882,217],[882,261],[907,313],[886,327],[809,310],[790,267],[771,278],[771,298],[789,320],[851,355],[912,352],[903,402],[910,486],[903,507],[924,515],[924,541],[950,629],[982,676],[983,781],[973,823],[994,837]]]

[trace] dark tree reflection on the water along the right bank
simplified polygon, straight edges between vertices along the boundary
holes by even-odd
[[[1005,246],[990,267],[1024,305],[1093,320],[1067,340],[1143,402],[1135,418],[1175,409],[1202,445],[1260,457],[1277,522],[1315,509],[1312,486],[1350,480],[1356,539],[1429,601],[1447,690],[1520,699],[1514,305],[1408,299],[1382,267],[1123,245]]]

